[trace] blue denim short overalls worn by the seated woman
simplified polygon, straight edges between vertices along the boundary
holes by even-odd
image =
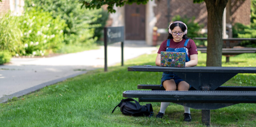
[[[185,53],[186,53],[186,62],[188,62],[188,61],[190,61],[190,59],[188,58],[188,54],[187,54],[187,52],[186,52],[186,46],[187,46],[187,44],[188,44],[188,41],[189,41],[189,39],[186,39],[183,48],[169,48],[169,46],[170,46],[170,39],[168,39],[168,40],[167,40],[167,44],[166,44],[166,46],[167,46],[166,51],[168,51],[168,52],[170,52],[170,51],[171,51],[171,52],[185,52]],[[170,78],[170,77],[172,77],[172,78]],[[174,77],[175,77],[175,79],[174,79]],[[160,87],[163,86],[162,83],[163,83],[165,80],[170,80],[170,79],[174,79],[174,81],[175,81],[176,84],[178,84],[179,82],[183,81],[181,78],[179,78],[179,77],[178,77],[176,74],[174,74],[173,72],[164,72],[164,73],[162,74],[161,86],[160,86]],[[191,86],[190,86],[190,87],[191,87]]]

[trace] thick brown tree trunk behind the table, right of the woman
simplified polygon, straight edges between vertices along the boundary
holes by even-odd
[[[221,66],[222,17],[228,0],[204,0],[208,12],[206,66]]]

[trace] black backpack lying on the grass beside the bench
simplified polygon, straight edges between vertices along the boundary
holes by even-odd
[[[130,101],[135,101],[135,103]],[[133,98],[122,99],[117,106],[120,107],[120,110],[124,115],[151,117],[154,114],[151,103],[140,105],[140,103]],[[115,111],[116,107],[112,113]]]

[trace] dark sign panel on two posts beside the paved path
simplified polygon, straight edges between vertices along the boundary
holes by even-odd
[[[124,27],[105,27],[104,28],[104,71],[108,71],[107,66],[107,45],[121,42],[121,66],[124,66]]]

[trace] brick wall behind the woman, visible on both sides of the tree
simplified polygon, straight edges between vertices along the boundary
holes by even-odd
[[[235,1],[237,1],[235,3]],[[170,19],[167,18],[167,0],[156,0],[154,13],[157,19],[155,26],[159,29],[167,29],[172,17],[180,15],[187,18],[195,17],[195,22],[203,24],[207,28],[207,9],[204,2],[193,3],[193,0],[170,0]],[[250,0],[231,0],[231,18],[234,23],[242,23],[244,25],[250,24]],[[168,22],[169,21],[169,22]],[[167,38],[167,34],[161,34],[159,40]]]

